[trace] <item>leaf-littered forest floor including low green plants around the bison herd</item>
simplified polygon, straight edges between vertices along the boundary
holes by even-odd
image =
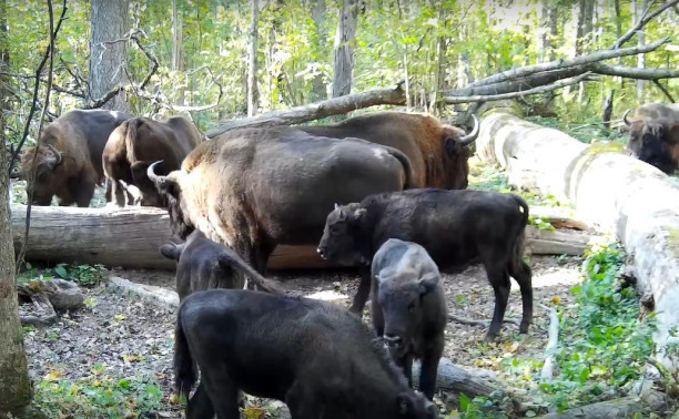
[[[478,164],[473,164],[472,167],[470,188],[509,191],[501,173]],[[21,201],[21,192],[20,187],[14,188],[14,197],[19,197],[17,201]],[[531,205],[568,205],[549,196],[524,196]],[[602,255],[605,258],[610,256],[608,253]],[[611,381],[609,376],[614,374],[600,371],[605,367],[610,371],[619,368],[610,365],[609,359],[620,360],[620,356],[612,352],[612,349],[607,349],[608,343],[599,347],[585,343],[589,345],[588,348],[594,349],[581,349],[582,346],[578,346],[580,352],[568,352],[569,346],[576,347],[576,344],[582,340],[578,336],[580,329],[590,327],[588,323],[572,323],[572,319],[578,319],[582,309],[604,313],[606,308],[591,308],[578,300],[578,293],[581,293],[586,278],[584,260],[584,257],[530,257],[535,311],[534,324],[526,336],[518,334],[517,326],[505,324],[499,341],[486,344],[483,341],[486,327],[448,321],[444,356],[465,367],[494,371],[510,387],[513,401],[503,403],[501,400],[490,400],[490,397],[469,400],[464,396],[439,391],[436,401],[442,413],[453,413],[450,417],[457,417],[455,413],[459,411],[463,418],[533,417],[546,412],[549,407],[554,408],[555,403],[560,403],[561,409],[626,394],[608,385]],[[605,263],[600,262],[600,265],[604,266]],[[595,270],[598,269],[599,265]],[[134,283],[174,288],[174,273],[171,272],[112,269],[103,274]],[[358,285],[358,276],[351,269],[285,270],[272,272],[270,275],[280,279],[290,294],[308,296],[325,292],[324,294],[334,296],[335,303],[346,306]],[[615,280],[616,276],[612,275],[610,280]],[[448,314],[468,319],[490,319],[495,298],[482,266],[470,266],[462,273],[444,274],[443,278]],[[602,284],[604,293],[617,293],[612,289],[612,283]],[[109,286],[105,280],[83,290],[87,300],[81,310],[62,315],[58,323],[50,327],[24,328],[30,371],[37,382],[34,405],[38,410],[48,417],[136,417],[139,412],[142,413],[141,417],[181,417],[181,408],[171,397],[175,310],[123,294],[119,288]],[[609,296],[605,297],[599,299],[611,300]],[[636,296],[630,298],[631,308],[629,313],[626,311],[625,321],[618,321],[614,317],[610,325],[600,326],[602,331],[608,330],[608,335],[615,335],[630,334],[629,330],[646,330],[639,326],[638,299],[635,299]],[[366,307],[369,309],[369,304]],[[559,362],[563,362],[561,372],[569,376],[549,388],[538,382],[548,338],[549,319],[546,307],[554,307],[559,311],[561,327],[566,327],[561,330],[565,339],[570,335],[572,339],[579,339],[561,344],[567,352],[559,358]],[[520,294],[513,280],[506,317],[520,318]],[[369,313],[366,313],[364,320],[369,324]],[[632,339],[650,341],[646,331],[634,335]],[[617,345],[615,347],[617,348]],[[635,370],[628,374],[629,377],[625,381],[619,382],[628,382],[639,377],[643,366],[638,365],[637,359],[647,357],[650,350],[647,349],[636,354],[632,360],[625,360],[627,364],[634,364]],[[604,352],[606,350],[610,354]],[[590,377],[589,372],[577,369],[582,368],[580,356],[590,359],[606,358],[609,364],[600,367],[599,372],[595,368],[597,375],[592,372]],[[589,370],[592,370],[591,366]],[[579,375],[576,381],[572,380],[574,371],[577,372],[576,376]],[[545,392],[540,392],[543,390]],[[486,408],[489,410],[484,410]],[[243,417],[287,418],[288,412],[282,402],[249,397]]]

